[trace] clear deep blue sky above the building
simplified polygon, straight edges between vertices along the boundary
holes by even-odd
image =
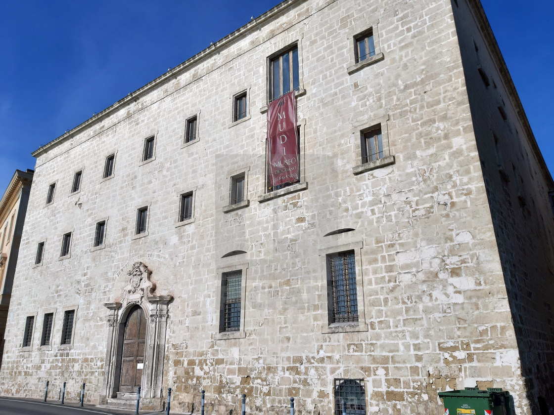
[[[554,172],[554,4],[482,2],[543,157]],[[34,168],[30,153],[39,146],[278,3],[0,2],[0,195],[16,169]]]

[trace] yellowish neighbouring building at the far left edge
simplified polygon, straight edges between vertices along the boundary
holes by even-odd
[[[4,333],[16,273],[23,222],[27,213],[33,170],[16,170],[0,199],[0,367],[4,349]]]

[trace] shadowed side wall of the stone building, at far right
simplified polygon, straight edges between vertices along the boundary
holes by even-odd
[[[527,398],[538,414],[540,396],[554,408],[553,183],[475,3],[459,2],[454,16]]]

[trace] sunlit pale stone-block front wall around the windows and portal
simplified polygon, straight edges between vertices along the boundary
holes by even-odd
[[[349,75],[353,35],[377,22],[384,59]],[[307,189],[259,203],[266,62],[295,42]],[[174,297],[163,393],[173,388],[176,411],[198,412],[203,388],[208,413],[239,411],[247,393],[250,410],[284,412],[294,396],[302,413],[331,414],[334,378],[362,378],[368,412],[443,413],[438,391],[479,385],[509,389],[529,414],[450,4],[297,2],[206,56],[38,156],[1,393],[40,397],[49,379],[52,397],[68,381],[75,399],[86,382],[87,400],[102,401],[103,304],[120,299],[141,261],[156,295]],[[250,118],[232,126],[232,97],[244,89]],[[198,112],[198,141],[183,147],[185,121]],[[378,122],[396,162],[354,175],[360,130]],[[141,164],[152,134],[155,160]],[[115,151],[114,177],[102,181]],[[81,168],[82,190],[69,195]],[[249,206],[224,213],[229,178],[241,170]],[[176,227],[178,195],[195,186],[194,222]],[[132,239],[136,209],[148,203],[148,235]],[[106,247],[91,251],[106,218]],[[355,230],[324,236],[343,228]],[[71,257],[59,261],[71,230]],[[43,240],[43,264],[33,267]],[[361,273],[360,324],[330,328],[325,255],[345,247]],[[247,253],[222,258],[233,250]],[[245,337],[219,340],[218,269],[238,264],[248,266]],[[62,350],[63,310],[74,306],[74,343]],[[41,350],[47,309],[56,313],[53,345]],[[33,346],[23,351],[33,313]]]

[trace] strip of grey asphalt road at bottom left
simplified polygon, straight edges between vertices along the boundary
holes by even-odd
[[[122,415],[135,413],[128,411],[111,411],[110,409],[85,406],[80,408],[73,404],[61,406],[59,403],[43,403],[18,400],[16,398],[0,398],[1,415]],[[143,415],[160,415],[161,412],[144,412]]]

